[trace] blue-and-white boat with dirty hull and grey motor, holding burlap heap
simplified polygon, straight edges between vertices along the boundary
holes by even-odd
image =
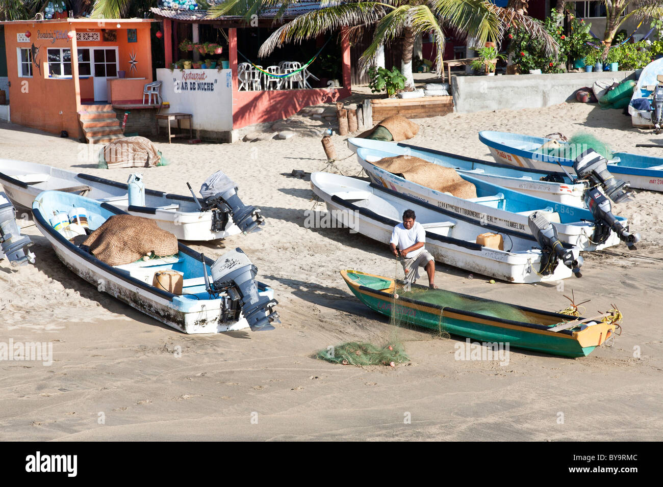
[[[52,225],[54,215],[72,207],[85,214],[90,231],[100,227],[109,217],[125,212],[109,203],[62,191],[44,191],[32,202],[34,224],[53,246],[58,258],[74,274],[96,286],[99,292],[105,292],[184,333],[273,328],[269,323],[278,319],[278,313],[272,309],[276,304],[274,291],[253,277],[249,278],[251,268],[255,266],[241,250],[232,250],[213,261],[178,243],[178,253],[173,256],[109,266],[68,240],[62,229]],[[219,291],[208,284],[208,268],[211,268],[209,280],[212,284],[232,282],[232,286]],[[220,273],[219,268],[222,269]],[[240,270],[246,271],[243,279],[235,277]],[[174,294],[162,286],[153,285],[155,273],[164,271],[182,274],[181,293]],[[255,276],[255,272],[252,275]],[[252,293],[254,296],[249,298],[248,294]]]

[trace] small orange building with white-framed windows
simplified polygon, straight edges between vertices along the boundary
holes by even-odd
[[[79,112],[86,104],[142,103],[143,87],[152,81],[151,22],[1,22],[11,122],[77,138],[84,135]]]

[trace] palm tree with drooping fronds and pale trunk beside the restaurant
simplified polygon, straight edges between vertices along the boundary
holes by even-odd
[[[210,8],[210,18],[241,15],[247,22],[265,9],[278,7],[274,22],[282,19],[288,7],[302,0],[225,0]],[[514,9],[497,7],[487,0],[322,0],[320,9],[299,15],[277,28],[261,46],[258,55],[269,56],[287,42],[302,42],[326,32],[348,27],[352,38],[375,25],[373,40],[359,58],[362,71],[369,68],[381,46],[402,36],[400,71],[406,77],[406,89],[414,88],[412,51],[418,34],[431,32],[438,46],[436,68],[442,73],[445,36],[450,27],[471,36],[483,46],[487,40],[501,39],[507,25],[526,28],[533,36],[544,39],[551,52],[557,52],[556,41],[530,17]]]

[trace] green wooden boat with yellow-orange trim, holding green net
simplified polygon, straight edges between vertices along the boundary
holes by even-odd
[[[589,319],[477,298],[444,290],[413,286],[397,289],[394,280],[355,270],[342,270],[351,292],[369,308],[422,327],[478,340],[487,347],[511,347],[551,355],[589,355],[613,337],[618,323],[613,313]],[[607,321],[601,321],[602,319]]]

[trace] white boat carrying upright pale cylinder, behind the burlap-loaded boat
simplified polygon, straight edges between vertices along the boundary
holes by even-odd
[[[200,201],[192,196],[145,189],[145,205],[130,205],[129,186],[125,183],[46,164],[0,159],[0,184],[19,211],[31,209],[32,201],[42,191],[65,191],[112,203],[130,215],[153,219],[178,240],[210,241],[240,233],[227,212],[201,211]]]

